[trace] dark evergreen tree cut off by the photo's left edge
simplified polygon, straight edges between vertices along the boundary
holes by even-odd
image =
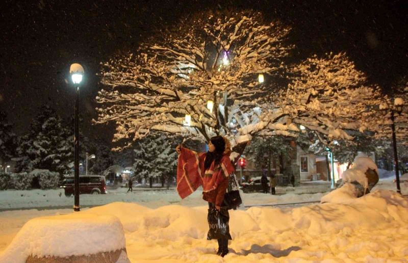
[[[12,131],[12,125],[7,121],[7,115],[0,111],[0,162],[10,161],[15,156],[16,135]]]

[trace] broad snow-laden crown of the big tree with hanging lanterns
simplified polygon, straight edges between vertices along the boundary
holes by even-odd
[[[97,123],[114,121],[114,141],[130,139],[128,145],[152,130],[206,141],[227,135],[233,145],[260,129],[288,130],[269,125],[282,116],[266,103],[272,80],[286,68],[288,33],[257,12],[189,16],[133,54],[101,63],[106,89],[96,97]]]

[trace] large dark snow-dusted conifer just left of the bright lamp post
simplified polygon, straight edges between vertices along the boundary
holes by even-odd
[[[21,138],[17,170],[47,169],[62,175],[72,162],[72,135],[55,110],[44,106],[39,112],[29,134]]]

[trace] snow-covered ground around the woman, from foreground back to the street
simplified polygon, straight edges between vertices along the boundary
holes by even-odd
[[[232,253],[223,260],[408,262],[408,200],[391,191],[375,191],[394,190],[392,179],[380,180],[372,194],[349,204],[231,211]],[[407,187],[406,182],[401,184],[403,193]],[[180,201],[174,190],[127,195],[126,190],[118,189],[115,194],[126,203],[83,209],[81,213],[117,216],[125,229],[126,250],[132,262],[222,262],[214,254],[216,242],[205,239],[207,207],[200,192]],[[69,199],[55,192],[58,198]],[[35,193],[30,199],[34,202],[37,196],[40,194]],[[89,195],[89,199],[83,196],[87,195],[81,195],[82,203],[99,200],[94,198],[110,198],[108,195]],[[281,196],[253,193],[244,194],[243,198],[245,204],[261,204],[319,200],[321,196],[321,193]],[[4,197],[0,196],[2,202]],[[137,198],[137,201],[126,198]],[[176,204],[169,204],[172,201]],[[0,212],[0,258],[31,218],[69,213],[72,209]]]

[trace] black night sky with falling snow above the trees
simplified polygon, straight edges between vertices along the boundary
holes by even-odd
[[[105,141],[113,125],[91,125],[99,63],[137,47],[161,26],[206,9],[260,10],[293,27],[295,59],[346,51],[358,69],[387,91],[408,72],[408,1],[27,1],[1,4],[0,109],[17,134],[38,108],[73,115],[71,63],[86,71],[81,90],[84,135]],[[2,121],[2,120],[0,120]]]

